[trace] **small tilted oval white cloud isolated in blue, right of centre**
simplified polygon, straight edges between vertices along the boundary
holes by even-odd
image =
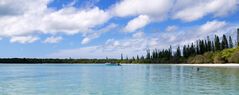
[[[125,26],[124,31],[134,32],[140,28],[143,28],[150,23],[150,18],[147,15],[140,15],[133,20],[129,21]]]

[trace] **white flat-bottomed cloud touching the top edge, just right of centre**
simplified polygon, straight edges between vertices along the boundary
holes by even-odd
[[[162,18],[173,4],[172,0],[121,0],[112,8],[116,16],[149,15]]]

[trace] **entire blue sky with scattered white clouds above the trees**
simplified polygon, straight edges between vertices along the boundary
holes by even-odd
[[[0,57],[120,58],[236,37],[239,0],[0,0]]]

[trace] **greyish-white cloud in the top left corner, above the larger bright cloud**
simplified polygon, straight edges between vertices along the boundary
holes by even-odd
[[[1,0],[0,17],[16,16],[26,13],[40,14],[47,9],[51,0]]]

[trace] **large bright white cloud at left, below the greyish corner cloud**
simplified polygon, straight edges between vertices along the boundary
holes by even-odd
[[[69,19],[70,18],[70,19]],[[99,8],[77,10],[64,8],[44,15],[21,15],[0,19],[1,36],[44,34],[76,34],[87,32],[109,19],[107,13]]]

